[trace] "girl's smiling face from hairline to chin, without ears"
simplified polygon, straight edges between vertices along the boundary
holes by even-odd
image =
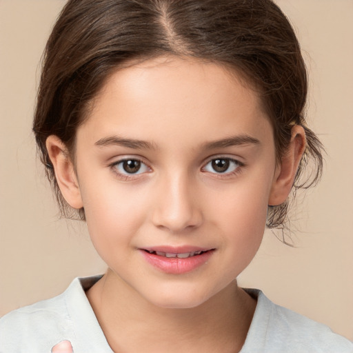
[[[116,283],[161,307],[200,305],[246,268],[279,177],[259,98],[192,59],[112,74],[78,129],[76,161],[74,205],[95,248]]]

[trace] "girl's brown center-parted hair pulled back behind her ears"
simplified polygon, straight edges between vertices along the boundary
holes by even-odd
[[[54,176],[46,139],[57,135],[70,152],[87,108],[113,70],[165,54],[196,57],[236,69],[259,90],[274,129],[276,156],[294,124],[307,147],[294,181],[307,188],[321,177],[322,146],[305,125],[307,72],[294,30],[270,0],[69,0],[48,40],[33,130],[63,216],[72,216]],[[308,159],[311,177],[299,181]],[[283,227],[288,202],[272,206],[270,228]],[[84,210],[79,210],[85,219]]]

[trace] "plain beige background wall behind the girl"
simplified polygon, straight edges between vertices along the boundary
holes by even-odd
[[[0,0],[0,316],[103,272],[84,224],[58,220],[31,133],[39,59],[62,0]],[[310,71],[308,117],[328,152],[293,221],[296,248],[265,234],[240,276],[353,339],[353,1],[281,0]]]

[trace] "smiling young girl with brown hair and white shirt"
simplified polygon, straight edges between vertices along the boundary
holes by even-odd
[[[236,283],[292,188],[319,179],[306,93],[270,0],[68,1],[34,133],[108,270],[4,316],[0,352],[353,352]]]

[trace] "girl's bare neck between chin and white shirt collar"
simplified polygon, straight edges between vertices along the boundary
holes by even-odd
[[[114,352],[239,352],[256,307],[235,281],[197,307],[157,307],[110,270],[87,296]]]

